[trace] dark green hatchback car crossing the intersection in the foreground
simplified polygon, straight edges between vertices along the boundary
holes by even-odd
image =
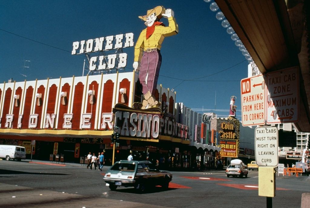
[[[172,174],[158,170],[150,161],[118,161],[107,170],[103,179],[112,191],[118,186],[144,191],[157,185],[168,189]]]

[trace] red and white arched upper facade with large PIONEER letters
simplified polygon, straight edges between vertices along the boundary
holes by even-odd
[[[104,138],[113,129],[120,89],[126,89],[126,106],[141,101],[137,80],[134,72],[126,72],[0,84],[0,133]],[[174,113],[175,93],[159,85],[155,96],[169,102]]]

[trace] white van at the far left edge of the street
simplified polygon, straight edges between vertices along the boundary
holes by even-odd
[[[14,146],[14,145],[0,145],[0,158],[6,160],[18,160],[26,158],[25,147]]]

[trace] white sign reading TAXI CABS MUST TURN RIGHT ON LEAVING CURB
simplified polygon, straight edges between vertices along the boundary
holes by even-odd
[[[255,160],[258,166],[278,166],[277,127],[263,126],[255,129]]]

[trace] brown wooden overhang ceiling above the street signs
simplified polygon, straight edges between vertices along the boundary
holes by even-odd
[[[309,38],[303,39],[306,47],[297,46],[299,39],[291,27],[287,1],[215,0],[263,74],[299,66],[300,120],[295,126],[301,132],[310,132]]]

